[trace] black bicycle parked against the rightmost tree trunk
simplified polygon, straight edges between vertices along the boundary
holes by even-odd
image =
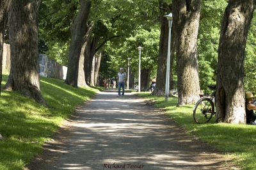
[[[211,120],[212,116],[216,114],[216,111],[214,111],[216,85],[210,85],[207,87],[213,90],[213,92],[211,95],[200,95],[200,100],[196,102],[193,109],[193,118],[196,123],[207,123]]]

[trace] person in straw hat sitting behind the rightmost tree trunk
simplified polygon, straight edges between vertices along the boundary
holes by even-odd
[[[256,105],[253,103],[253,94],[248,91],[245,93],[245,112],[246,112],[246,123],[256,125],[256,116],[254,111],[256,110]]]

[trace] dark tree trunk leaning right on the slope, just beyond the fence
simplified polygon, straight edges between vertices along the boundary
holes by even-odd
[[[90,6],[90,0],[81,1],[81,8],[72,24],[72,39],[68,52],[68,70],[65,83],[74,87],[77,87],[79,58],[83,45],[83,38],[86,35]]]

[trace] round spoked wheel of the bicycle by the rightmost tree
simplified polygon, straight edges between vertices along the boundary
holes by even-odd
[[[207,123],[214,114],[214,104],[209,98],[201,98],[193,109],[193,117],[196,123]]]

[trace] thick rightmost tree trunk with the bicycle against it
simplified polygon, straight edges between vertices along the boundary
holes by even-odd
[[[218,49],[216,121],[245,123],[244,50],[255,1],[229,1],[221,24]]]

